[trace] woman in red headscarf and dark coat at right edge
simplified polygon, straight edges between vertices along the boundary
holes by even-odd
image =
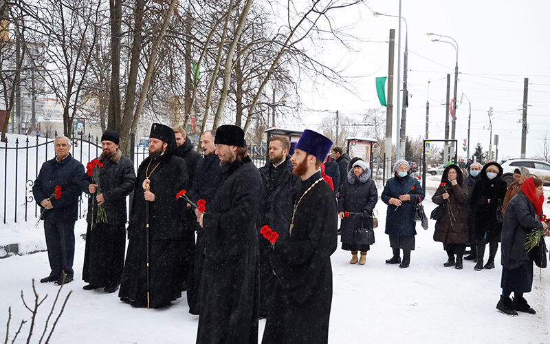
[[[525,241],[533,228],[544,229],[546,236],[550,236],[547,224],[538,220],[542,215],[543,203],[542,180],[532,177],[523,182],[521,190],[508,203],[500,259],[503,265],[500,288],[503,293],[496,304],[496,308],[505,314],[518,315],[516,311],[535,314],[523,298],[523,293],[530,292],[533,284],[533,261],[527,254]],[[514,292],[514,301],[510,299],[511,292]]]

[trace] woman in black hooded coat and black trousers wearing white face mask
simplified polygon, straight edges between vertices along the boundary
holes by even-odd
[[[502,213],[500,207],[503,204],[506,194],[506,182],[500,179],[503,175],[503,168],[496,162],[489,162],[483,166],[480,178],[470,199],[474,216],[476,219],[476,244],[477,263],[474,270],[483,268],[494,269],[494,257],[498,250],[500,231],[502,230]],[[489,260],[483,266],[483,255],[485,245],[489,243]]]

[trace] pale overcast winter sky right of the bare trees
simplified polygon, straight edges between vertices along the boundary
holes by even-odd
[[[451,98],[454,87],[456,53],[446,43],[432,42],[426,32],[451,36],[459,44],[459,85],[456,139],[459,155],[467,138],[468,103],[472,103],[470,154],[477,142],[483,149],[489,144],[487,111],[494,107],[493,134],[500,135],[499,159],[519,158],[523,78],[529,78],[527,157],[536,156],[550,129],[550,66],[547,13],[550,2],[529,1],[439,1],[402,0],[401,15],[408,23],[408,90],[406,133],[424,136],[426,98],[430,81],[430,138],[444,137],[446,74],[451,74]],[[369,10],[370,8],[370,10]],[[338,25],[347,25],[354,52],[327,44],[322,53],[328,61],[345,68],[344,75],[354,76],[351,86],[357,94],[329,83],[318,83],[316,90],[305,86],[301,101],[309,111],[302,125],[314,129],[323,116],[340,111],[340,116],[353,116],[364,109],[380,107],[375,77],[388,74],[389,29],[395,28],[394,92],[397,90],[397,25],[398,19],[374,17],[373,12],[397,15],[398,0],[371,0],[358,8],[333,13]],[[405,43],[405,25],[401,22],[401,46]],[[403,50],[401,50],[402,54]],[[325,61],[327,61],[325,60]],[[402,66],[402,58],[401,58]],[[402,69],[401,69],[402,70]],[[402,78],[402,72],[401,72]],[[309,86],[310,87],[310,86]],[[310,92],[307,92],[310,91]],[[309,95],[308,95],[309,94]],[[394,94],[393,142],[397,95]],[[329,110],[329,111],[327,111]]]

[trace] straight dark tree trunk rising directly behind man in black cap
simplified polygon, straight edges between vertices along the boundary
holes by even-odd
[[[111,13],[111,87],[109,92],[109,123],[111,130],[120,129],[120,25],[122,0],[109,0]]]

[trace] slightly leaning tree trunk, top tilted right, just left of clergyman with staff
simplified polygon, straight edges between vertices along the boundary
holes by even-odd
[[[143,42],[143,16],[145,0],[137,0],[134,9],[133,42],[130,60],[130,72],[128,73],[128,85],[126,85],[126,99],[124,100],[124,114],[120,123],[120,150],[129,151],[130,129],[132,126],[133,109],[135,103],[135,87],[137,86],[137,73],[140,71],[140,54]]]

